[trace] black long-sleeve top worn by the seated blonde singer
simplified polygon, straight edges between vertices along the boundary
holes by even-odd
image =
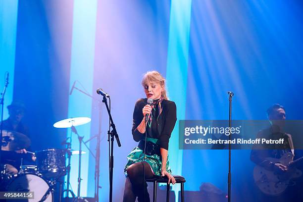
[[[145,138],[145,133],[140,133],[137,127],[143,120],[142,109],[146,104],[147,99],[139,99],[135,104],[132,134],[136,142]],[[152,125],[151,127],[147,126],[147,137],[158,139],[157,144],[168,150],[169,138],[177,121],[176,104],[173,101],[163,100],[161,105],[162,112],[159,117],[158,106],[155,105],[155,109],[152,110]]]

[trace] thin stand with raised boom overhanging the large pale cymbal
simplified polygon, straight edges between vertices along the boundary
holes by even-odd
[[[90,94],[82,91],[81,89],[75,87],[73,85],[74,89],[77,89],[79,92],[83,93],[84,95],[92,98],[94,101],[98,101],[99,102],[99,133],[97,136],[94,136],[92,138],[90,138],[88,141],[84,142],[85,144],[88,143],[89,141],[93,140],[95,137],[97,137],[97,146],[96,146],[96,155],[94,155],[92,152],[91,154],[94,156],[95,160],[95,201],[99,202],[99,189],[101,188],[100,184],[100,142],[101,142],[101,102],[97,99],[95,99],[93,96],[91,96]]]

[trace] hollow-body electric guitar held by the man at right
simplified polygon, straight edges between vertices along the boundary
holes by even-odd
[[[259,165],[253,169],[253,179],[257,187],[264,194],[277,196],[282,194],[288,186],[295,185],[291,179],[298,178],[302,175],[302,171],[298,170],[295,165],[303,160],[303,157],[293,161],[291,152],[285,153],[280,159],[266,158],[273,163],[281,163],[287,166],[287,171],[267,170]]]

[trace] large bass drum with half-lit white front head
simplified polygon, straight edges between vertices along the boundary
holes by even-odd
[[[49,184],[36,174],[18,175],[7,186],[7,192],[34,192],[34,199],[29,199],[28,202],[39,202],[45,193],[50,188]],[[13,200],[9,200],[13,201]],[[20,201],[20,200],[16,200]],[[50,192],[45,202],[53,202],[53,193]]]

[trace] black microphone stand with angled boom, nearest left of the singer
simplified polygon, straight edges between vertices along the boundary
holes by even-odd
[[[103,100],[102,102],[105,103],[106,109],[107,109],[107,113],[109,116],[109,128],[111,127],[112,130],[110,131],[110,129],[108,130],[108,136],[110,135],[110,148],[108,148],[108,150],[110,150],[110,159],[109,159],[109,202],[112,202],[112,179],[113,179],[113,142],[114,142],[114,137],[116,138],[118,147],[121,147],[121,143],[119,140],[119,136],[116,130],[116,126],[112,120],[111,114],[110,114],[110,109],[108,108],[108,104],[107,104],[107,99],[105,97],[105,95],[103,96]],[[109,98],[109,102],[110,102],[110,98]],[[109,140],[108,140],[109,141]],[[109,152],[109,151],[108,151]]]

